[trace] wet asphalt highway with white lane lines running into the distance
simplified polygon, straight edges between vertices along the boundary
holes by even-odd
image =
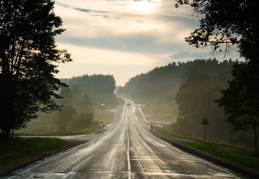
[[[4,178],[245,178],[156,138],[141,109],[125,98],[115,122],[92,140]]]

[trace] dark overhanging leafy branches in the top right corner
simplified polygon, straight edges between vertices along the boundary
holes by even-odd
[[[197,48],[211,46],[214,51],[238,48],[245,59],[258,59],[259,1],[247,0],[176,0],[175,7],[190,5],[192,16],[198,18],[199,28],[185,41]],[[200,18],[202,17],[202,18]]]

